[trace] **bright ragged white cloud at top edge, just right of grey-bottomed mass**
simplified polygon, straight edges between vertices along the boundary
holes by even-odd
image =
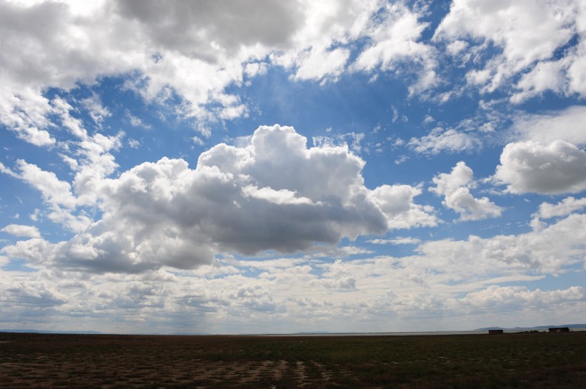
[[[427,24],[419,21],[422,14],[417,9],[372,0],[304,6],[292,49],[271,54],[274,64],[293,69],[292,79],[335,81],[344,71],[403,71],[409,64],[412,93],[437,84],[434,49],[420,41]],[[357,57],[350,61],[357,46]]]

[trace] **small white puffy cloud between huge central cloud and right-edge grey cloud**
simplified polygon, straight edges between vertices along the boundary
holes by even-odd
[[[462,221],[500,216],[500,206],[492,203],[487,197],[475,198],[470,193],[470,188],[474,188],[475,183],[472,181],[472,169],[464,161],[458,162],[451,173],[440,173],[432,181],[436,186],[429,190],[445,196],[442,204],[460,213]]]

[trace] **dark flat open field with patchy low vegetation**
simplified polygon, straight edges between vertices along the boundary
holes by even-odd
[[[0,333],[0,388],[586,388],[586,332]]]

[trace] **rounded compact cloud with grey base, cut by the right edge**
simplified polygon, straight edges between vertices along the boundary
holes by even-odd
[[[572,143],[509,143],[493,177],[510,193],[577,193],[586,188],[586,153]]]

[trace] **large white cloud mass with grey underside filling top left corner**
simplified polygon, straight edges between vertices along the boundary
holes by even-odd
[[[74,2],[3,1],[0,15],[1,34],[12,37],[0,54],[0,121],[38,146],[55,143],[48,119],[54,104],[44,91],[101,76],[134,73],[138,79],[128,85],[150,100],[164,100],[172,89],[187,116],[206,118],[211,101],[219,115],[242,114],[242,104],[223,89],[242,81],[242,61],[266,55],[264,47],[286,47],[303,16],[296,2],[114,0],[82,15]],[[85,106],[96,123],[109,115],[96,98]]]

